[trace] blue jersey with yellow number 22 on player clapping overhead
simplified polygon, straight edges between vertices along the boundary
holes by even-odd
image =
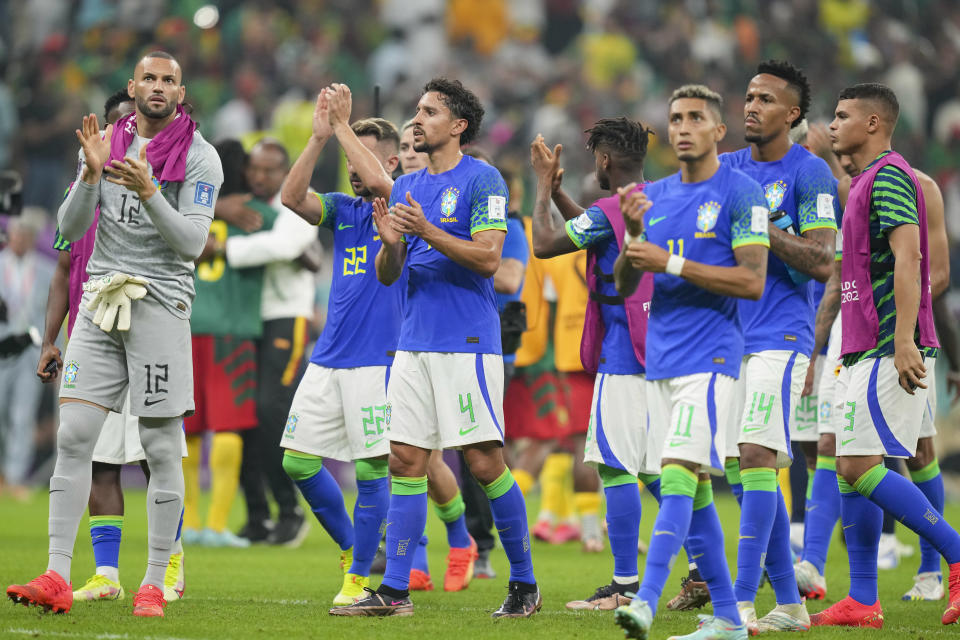
[[[374,261],[383,243],[372,204],[343,193],[316,196],[323,203],[320,225],[333,231],[333,281],[327,324],[310,362],[336,369],[393,364],[406,270],[395,286],[377,280]]]

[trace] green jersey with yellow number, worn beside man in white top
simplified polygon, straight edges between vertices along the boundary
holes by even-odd
[[[277,219],[277,210],[256,198],[247,202],[263,218],[259,231],[269,231]],[[210,224],[210,235],[220,242],[230,236],[245,236],[246,231],[223,220]],[[197,265],[194,286],[197,297],[190,315],[194,335],[259,338],[263,333],[260,298],[263,292],[263,267],[234,269],[224,256],[215,256]]]

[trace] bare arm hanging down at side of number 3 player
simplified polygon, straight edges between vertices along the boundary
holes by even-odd
[[[893,364],[900,374],[900,386],[912,395],[917,387],[927,388],[923,382],[927,370],[913,340],[920,311],[920,228],[902,224],[890,232],[888,239],[895,260],[893,301],[897,308]]]

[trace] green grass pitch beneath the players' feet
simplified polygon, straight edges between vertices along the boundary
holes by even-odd
[[[352,500],[348,499],[352,502]],[[735,571],[736,531],[739,511],[733,498],[718,495],[717,506],[726,533],[727,557]],[[535,500],[529,505],[535,513]],[[649,539],[656,504],[650,496],[643,498],[644,518],[641,535]],[[947,517],[960,522],[960,508],[949,506]],[[231,526],[242,520],[241,506],[235,505]],[[430,567],[435,585],[442,588],[445,534],[442,523],[431,513],[428,517]],[[489,613],[506,593],[508,567],[502,551],[494,553],[494,567],[499,575],[494,580],[475,580],[460,593],[433,591],[415,593],[412,618],[337,619],[327,614],[330,600],[340,586],[336,547],[312,523],[310,534],[299,549],[257,546],[250,549],[186,549],[186,595],[167,607],[165,619],[136,619],[131,615],[132,592],[139,586],[146,563],[146,515],[144,492],[127,494],[127,516],[120,555],[120,579],[128,590],[123,601],[76,603],[66,615],[41,614],[36,609],[14,606],[6,601],[0,606],[2,638],[90,638],[120,640],[153,638],[155,640],[227,638],[390,638],[432,640],[434,638],[484,639],[523,637],[543,638],[610,638],[622,637],[609,612],[567,611],[564,604],[584,598],[609,582],[613,567],[609,552],[586,555],[579,544],[550,546],[535,542],[533,562],[543,592],[543,610],[529,620],[493,621]],[[40,491],[27,503],[0,498],[0,584],[33,578],[46,568],[47,500]],[[916,546],[916,537],[898,527],[898,536]],[[894,637],[933,638],[956,635],[960,630],[943,627],[940,615],[945,601],[908,603],[900,596],[912,584],[917,555],[906,558],[900,567],[880,572],[880,601],[884,605],[885,624],[882,631],[856,629],[823,629],[810,631],[811,638]],[[641,572],[643,558],[640,558]],[[946,566],[944,565],[944,570]],[[74,585],[93,573],[90,534],[84,518],[77,536],[73,562]],[[686,572],[686,559],[681,552],[673,575],[667,583],[662,604],[677,591],[680,576]],[[379,577],[374,577],[377,584]],[[847,593],[848,577],[843,546],[831,545],[827,565],[828,600],[809,603],[811,613]],[[774,605],[769,586],[760,590],[757,612],[766,613]],[[709,612],[709,606],[704,610]],[[667,612],[663,606],[654,620],[652,638],[684,634],[696,627],[695,613]]]

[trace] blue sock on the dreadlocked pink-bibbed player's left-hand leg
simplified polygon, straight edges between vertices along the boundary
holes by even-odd
[[[606,467],[610,469],[610,467]],[[640,488],[629,473],[621,472],[623,484],[613,484],[601,466],[603,494],[607,499],[607,535],[613,553],[613,575],[638,579],[637,542],[640,538]]]

